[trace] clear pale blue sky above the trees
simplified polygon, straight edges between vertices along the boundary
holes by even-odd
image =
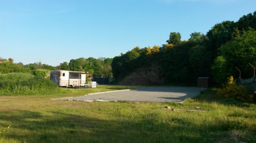
[[[162,46],[253,13],[255,0],[0,0],[0,57],[59,65]]]

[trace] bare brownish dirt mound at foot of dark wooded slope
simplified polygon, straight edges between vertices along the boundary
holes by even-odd
[[[132,75],[122,80],[119,85],[162,85],[164,80],[160,76],[158,65],[137,68]]]

